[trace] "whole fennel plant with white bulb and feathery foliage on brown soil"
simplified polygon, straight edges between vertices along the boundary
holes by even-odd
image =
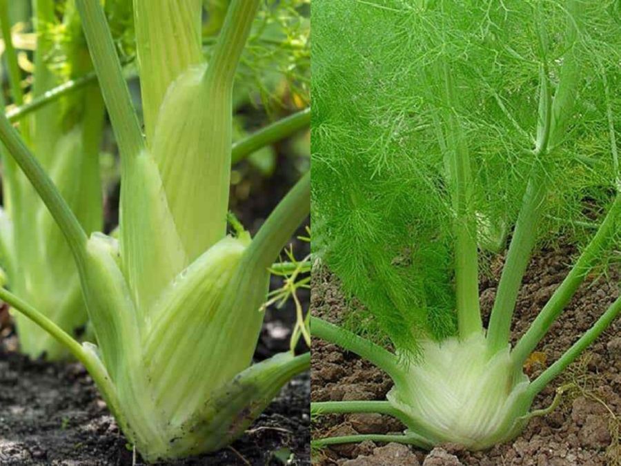
[[[394,382],[384,401],[311,412],[382,413],[407,427],[315,445],[484,449],[549,411],[533,410],[535,397],[621,311],[617,298],[540,376],[524,374],[586,276],[614,266],[620,24],[614,1],[313,3],[313,247],[395,350],[311,318],[315,337]],[[485,328],[480,266],[503,249],[503,230],[511,242]],[[511,344],[529,258],[560,235],[580,255]]]

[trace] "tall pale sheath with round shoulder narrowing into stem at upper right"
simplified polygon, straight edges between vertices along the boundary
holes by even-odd
[[[149,141],[184,266],[226,235],[233,78],[258,3],[230,6],[213,59],[208,66],[188,68],[170,84]]]

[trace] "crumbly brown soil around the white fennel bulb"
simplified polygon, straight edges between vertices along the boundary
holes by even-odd
[[[538,254],[529,266],[517,302],[513,342],[524,333],[546,300],[558,287],[575,251],[568,246]],[[482,279],[481,305],[486,318],[491,311],[502,258],[491,264],[491,278]],[[526,372],[531,379],[555,361],[600,316],[619,294],[621,277],[590,277],[553,324],[548,336],[531,357]],[[337,280],[325,270],[313,270],[311,312],[339,322],[356,303],[347,303]],[[334,344],[313,340],[311,400],[382,400],[392,387],[380,369]],[[510,443],[486,452],[466,452],[456,445],[442,445],[433,452],[391,443],[364,442],[335,445],[313,452],[314,465],[620,465],[621,427],[621,320],[589,348],[580,360],[554,380],[535,400],[535,408],[550,405],[556,387],[571,384],[558,409],[535,418],[524,433]],[[348,434],[400,433],[404,426],[379,414],[321,416],[313,420],[313,438]]]

